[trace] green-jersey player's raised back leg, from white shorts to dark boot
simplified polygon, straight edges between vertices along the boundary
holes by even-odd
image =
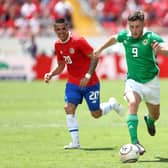
[[[151,136],[156,134],[155,121],[160,116],[160,84],[157,78],[145,84],[145,101],[148,108],[148,114],[144,116],[148,133]]]

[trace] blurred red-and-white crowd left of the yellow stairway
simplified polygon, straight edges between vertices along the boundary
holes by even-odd
[[[72,7],[65,0],[0,0],[0,36],[48,36],[59,17],[73,27]]]

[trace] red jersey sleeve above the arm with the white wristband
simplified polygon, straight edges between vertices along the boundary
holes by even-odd
[[[78,39],[77,45],[80,51],[85,55],[89,55],[93,52],[93,47],[83,37]]]

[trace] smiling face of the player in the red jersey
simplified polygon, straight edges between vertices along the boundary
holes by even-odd
[[[61,41],[66,41],[69,36],[69,30],[66,24],[64,23],[56,23],[54,25],[54,31],[57,34],[58,38]]]

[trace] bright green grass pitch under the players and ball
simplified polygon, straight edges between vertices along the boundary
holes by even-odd
[[[129,143],[124,117],[111,112],[91,117],[85,102],[77,109],[82,149],[64,150],[70,142],[65,121],[65,81],[0,82],[0,168],[168,168],[168,80],[161,80],[161,116],[157,134],[147,133],[139,109],[138,136],[147,152],[123,164],[118,152]],[[125,108],[124,81],[101,81],[101,100],[115,96]]]

